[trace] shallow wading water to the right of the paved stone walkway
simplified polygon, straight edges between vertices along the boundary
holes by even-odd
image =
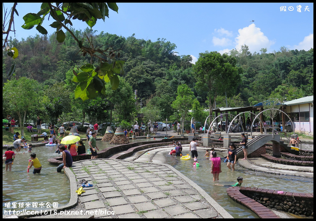
[[[168,155],[168,151],[165,152],[163,155],[168,164],[204,189],[207,194],[216,200],[216,202],[234,218],[258,218],[254,212],[229,198],[226,192],[228,186],[222,187],[213,185],[215,182],[213,182],[213,175],[210,173],[210,160],[203,158],[205,150],[198,151],[198,162],[200,166],[197,168],[192,166],[192,160],[181,160],[180,158]],[[223,157],[226,155],[226,152],[217,152],[217,155]],[[237,182],[237,177],[241,176],[244,181],[242,186],[245,187],[260,187],[296,193],[313,193],[312,178],[265,174],[258,171],[247,170],[238,164],[235,165],[235,171],[231,171],[228,170],[226,165],[226,163],[222,162],[222,173],[219,175],[219,183],[223,185],[233,185]]]

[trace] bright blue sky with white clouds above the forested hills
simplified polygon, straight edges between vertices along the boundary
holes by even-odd
[[[279,51],[313,48],[313,3],[117,3],[119,13],[109,11],[109,18],[97,21],[97,33],[117,34],[174,43],[178,55],[191,55],[196,61],[205,51],[229,52],[248,45],[249,51]],[[8,10],[13,3],[4,3]],[[301,6],[301,7],[300,7]],[[282,8],[281,8],[282,7]],[[285,8],[284,8],[285,7]],[[298,12],[298,8],[301,12]],[[15,15],[15,37],[19,40],[39,34],[35,29],[24,30],[22,17],[40,11],[40,3],[18,3]],[[285,10],[284,10],[285,9]],[[251,22],[254,20],[253,22]],[[74,22],[75,29],[88,27]],[[49,34],[56,29],[44,21]],[[11,36],[14,37],[13,33]]]

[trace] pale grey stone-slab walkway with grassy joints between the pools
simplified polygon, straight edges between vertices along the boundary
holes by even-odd
[[[166,164],[95,159],[76,162],[72,170],[77,187],[81,179],[93,184],[83,188],[79,203],[88,212],[104,211],[95,218],[232,218],[203,189]]]

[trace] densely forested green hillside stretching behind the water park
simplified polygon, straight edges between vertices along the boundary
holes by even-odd
[[[151,41],[136,39],[134,35],[123,37],[90,29],[72,31],[78,39],[83,37],[83,45],[92,44],[101,49],[112,46],[114,50],[119,50],[115,52],[116,58],[125,63],[118,90],[112,91],[108,83],[107,96],[99,94],[95,99],[86,101],[75,99],[74,91],[78,83],[72,81],[73,70],[78,71],[86,63],[97,64],[99,61],[89,54],[83,56],[77,42],[68,33],[63,43],[58,43],[54,36],[46,35],[27,37],[21,41],[10,39],[12,45],[19,50],[19,57],[15,59],[15,75],[11,81],[18,82],[21,77],[25,77],[23,79],[38,82],[36,88],[13,86],[14,90],[37,92],[38,97],[34,98],[33,105],[26,113],[27,119],[41,115],[45,122],[56,122],[61,117],[82,122],[99,120],[124,124],[133,122],[136,113],[144,113],[144,120],[175,120],[179,119],[179,112],[177,108],[172,108],[172,104],[178,95],[178,86],[184,84],[194,95],[195,103],[192,101],[192,104],[195,105],[191,106],[192,110],[195,108],[197,114],[198,110],[208,108],[208,93],[200,90],[196,84],[190,55],[179,55],[175,43],[164,38]],[[262,49],[252,54],[243,45],[241,50],[230,51],[225,59],[227,61],[223,65],[228,62],[232,64],[232,68],[237,71],[237,80],[228,82],[222,78],[213,83],[234,86],[234,93],[228,93],[229,107],[254,105],[270,96],[292,100],[313,95],[313,49],[297,51],[282,47],[273,53],[266,53],[266,49]],[[12,62],[12,58],[3,51],[3,86],[8,80],[7,73]],[[5,90],[4,116],[14,111],[8,105]],[[216,95],[217,107],[226,106],[224,98],[224,92],[220,91]],[[212,99],[214,95],[211,95]]]

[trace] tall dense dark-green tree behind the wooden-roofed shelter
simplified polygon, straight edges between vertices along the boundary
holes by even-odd
[[[196,90],[205,91],[209,97],[209,115],[212,115],[216,97],[227,92],[234,94],[240,83],[240,73],[236,59],[226,54],[213,51],[200,53],[195,65],[193,75],[196,78]],[[213,98],[213,105],[211,104]]]

